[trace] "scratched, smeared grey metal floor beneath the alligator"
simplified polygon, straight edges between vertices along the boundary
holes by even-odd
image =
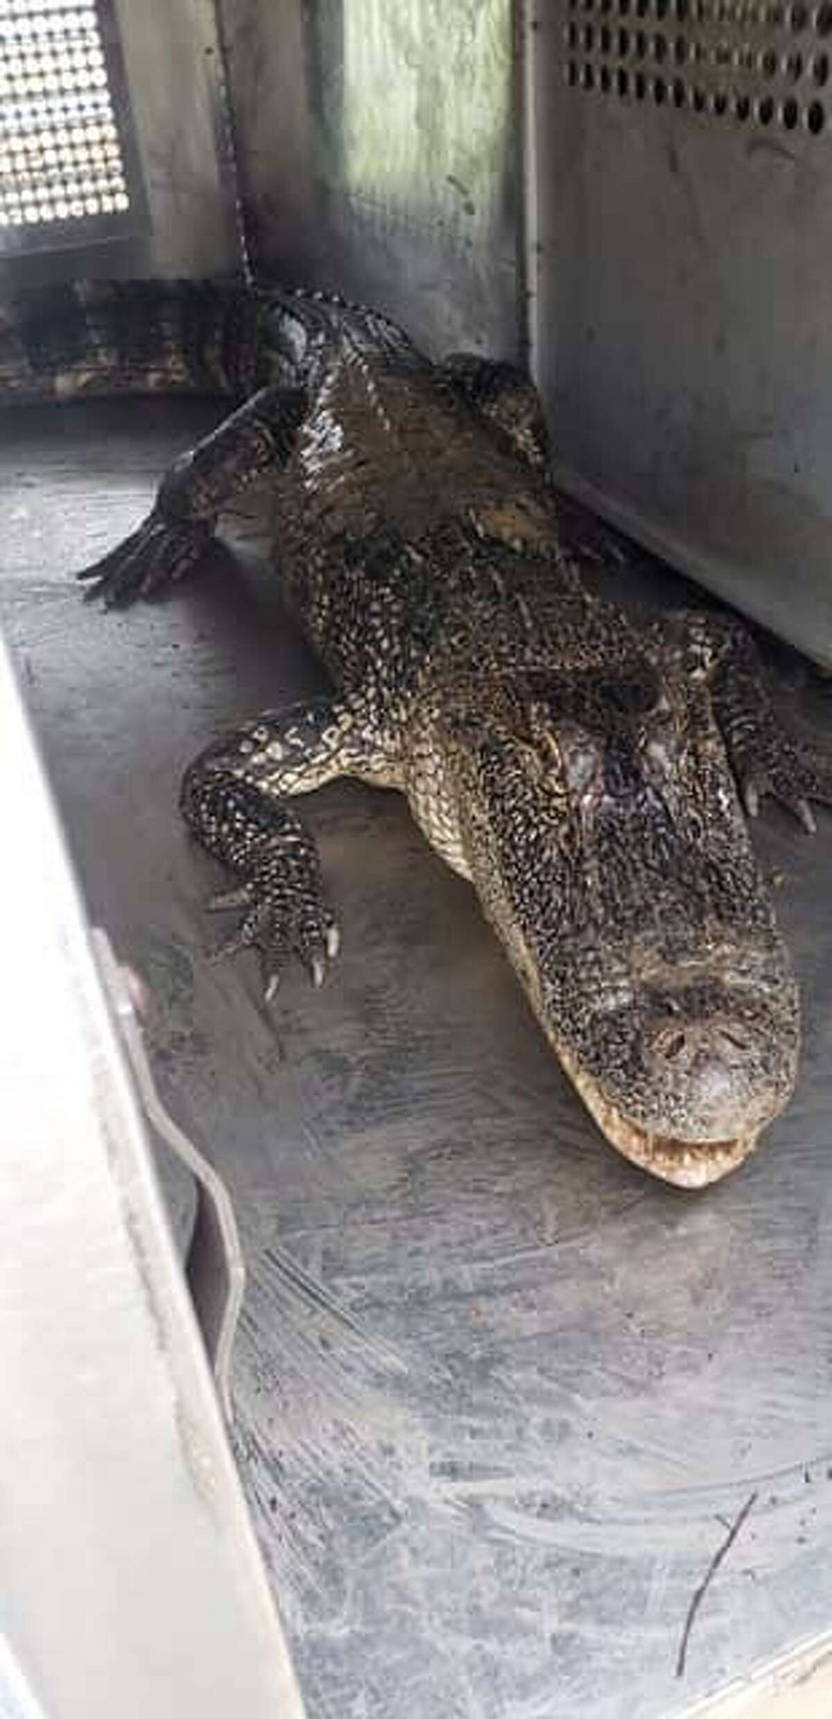
[[[203,961],[217,872],[177,784],[315,667],[251,528],[242,567],[218,552],[124,615],[70,578],[217,416],[9,414],[0,619],[91,918],[150,982],[165,1098],[234,1193],[239,1465],[309,1719],[669,1719],[832,1621],[832,817],[760,830],[803,1074],[705,1195],[603,1145],[394,794],[306,804],[344,951],[266,1009],[253,961]]]

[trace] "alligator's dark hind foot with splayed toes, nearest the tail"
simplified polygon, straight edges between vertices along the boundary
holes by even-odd
[[[156,595],[191,571],[210,538],[210,524],[168,521],[153,511],[124,543],[76,574],[88,586],[84,602],[103,598],[105,609],[125,609]]]

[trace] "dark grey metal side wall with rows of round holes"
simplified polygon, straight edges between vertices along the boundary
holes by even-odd
[[[832,665],[832,7],[547,0],[559,476]]]

